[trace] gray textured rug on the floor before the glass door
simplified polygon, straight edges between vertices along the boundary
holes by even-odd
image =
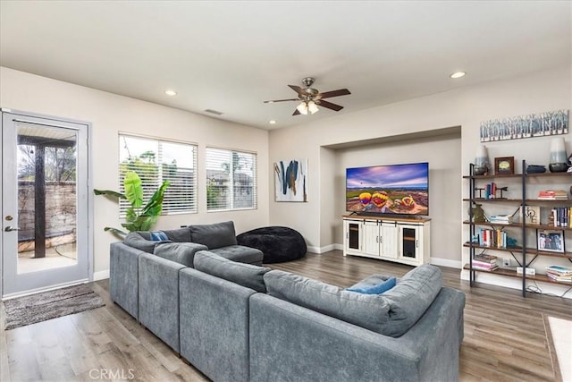
[[[4,329],[23,327],[104,305],[101,297],[86,284],[18,297],[4,301]]]

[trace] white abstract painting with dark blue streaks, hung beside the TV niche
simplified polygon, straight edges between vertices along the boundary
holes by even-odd
[[[274,163],[276,201],[307,201],[307,158]]]

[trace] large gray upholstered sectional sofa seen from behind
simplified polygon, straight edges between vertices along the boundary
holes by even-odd
[[[458,380],[465,295],[438,267],[364,294],[189,242],[153,251],[112,244],[112,300],[214,381]]]

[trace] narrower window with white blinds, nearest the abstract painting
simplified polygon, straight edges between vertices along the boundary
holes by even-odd
[[[257,155],[206,148],[206,210],[257,208]]]

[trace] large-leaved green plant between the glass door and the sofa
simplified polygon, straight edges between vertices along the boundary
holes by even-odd
[[[125,193],[111,191],[111,190],[96,190],[96,195],[105,195],[114,199],[125,199],[130,202],[131,207],[127,209],[125,214],[125,223],[122,227],[128,232],[133,231],[148,231],[156,224],[158,217],[161,215],[163,209],[164,191],[169,186],[169,181],[164,181],[161,186],[155,191],[147,204],[143,205],[143,187],[141,179],[137,173],[128,171],[123,178],[123,189]],[[127,232],[114,228],[105,227],[104,231],[124,236]]]

